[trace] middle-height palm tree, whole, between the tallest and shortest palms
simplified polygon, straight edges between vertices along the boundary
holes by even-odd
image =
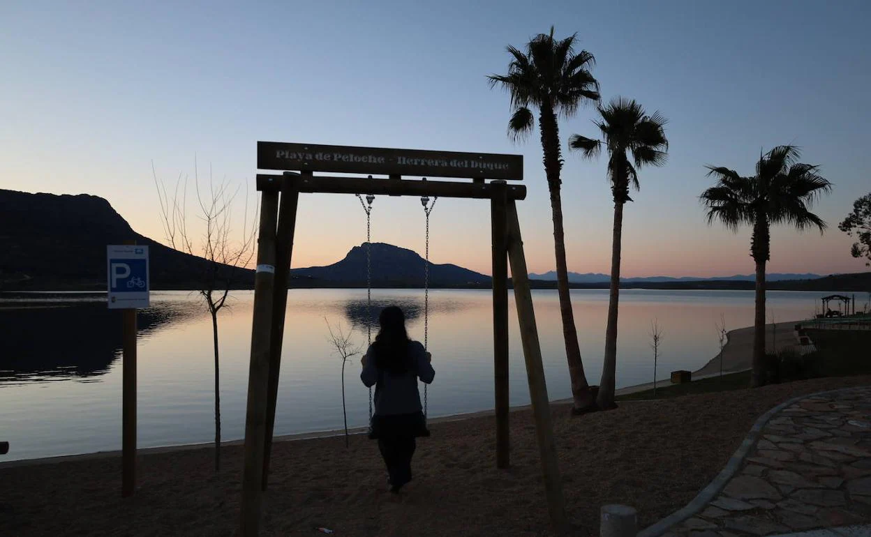
[[[629,185],[638,190],[638,169],[642,166],[665,164],[668,140],[665,139],[665,117],[659,112],[648,116],[635,100],[617,97],[607,106],[599,106],[601,119],[594,121],[602,140],[584,138],[578,134],[569,140],[569,147],[584,151],[584,157],[594,158],[602,146],[608,151],[608,180],[614,196],[614,238],[611,243],[611,295],[608,301],[608,327],[604,338],[604,364],[596,403],[599,408],[614,408],[614,384],[617,372],[617,314],[620,298],[620,237],[623,234],[623,206],[629,197]],[[629,158],[631,153],[632,158]]]

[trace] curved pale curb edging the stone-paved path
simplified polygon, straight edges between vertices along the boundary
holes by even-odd
[[[804,395],[800,395],[798,397],[793,397],[793,399],[789,399],[780,403],[778,406],[774,406],[768,412],[762,414],[759,420],[753,424],[750,428],[750,433],[747,433],[746,438],[738,449],[733,453],[732,458],[729,459],[729,462],[726,463],[726,467],[724,467],[720,473],[717,474],[710,483],[708,483],[707,487],[703,488],[701,492],[699,492],[695,498],[693,498],[690,503],[686,504],[685,507],[680,508],[674,513],[666,516],[664,519],[660,519],[657,522],[653,523],[651,526],[645,527],[645,529],[638,532],[637,537],[659,537],[662,534],[665,534],[672,526],[683,522],[684,520],[690,518],[693,514],[699,513],[703,507],[706,507],[707,504],[714,499],[714,497],[719,494],[719,492],[726,487],[726,483],[731,480],[735,473],[738,473],[739,468],[741,467],[741,463],[744,462],[747,453],[750,452],[750,448],[756,444],[756,440],[759,440],[760,432],[762,431],[762,427],[766,426],[768,420],[771,420],[776,413],[780,413],[781,410],[786,408],[787,406],[792,406],[795,403],[799,402],[803,399],[808,399],[811,397],[817,397],[820,395],[828,395],[831,393],[844,393],[851,392],[855,389],[859,389],[862,387],[868,386],[854,386],[850,388],[839,388],[836,390],[827,390],[825,392],[817,392],[817,393],[806,393]]]

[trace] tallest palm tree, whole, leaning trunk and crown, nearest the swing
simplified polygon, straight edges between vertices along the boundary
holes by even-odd
[[[563,202],[560,198],[560,171],[563,169],[557,116],[571,117],[581,104],[599,100],[598,82],[590,73],[595,63],[586,50],[575,52],[577,34],[554,39],[550,34],[533,37],[526,50],[508,46],[511,62],[507,75],[490,75],[490,87],[500,86],[510,93],[511,115],[508,131],[515,140],[530,134],[535,126],[532,110],[538,110],[538,127],[544,151],[544,174],[550,191],[554,250],[557,256],[557,292],[563,318],[566,359],[569,362],[571,394],[576,413],[591,408],[590,386],[584,376],[584,363],[577,343],[575,316],[571,310],[569,272],[565,265]]]

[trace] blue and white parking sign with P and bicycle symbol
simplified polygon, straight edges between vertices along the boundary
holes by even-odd
[[[106,246],[111,309],[148,307],[148,246]]]

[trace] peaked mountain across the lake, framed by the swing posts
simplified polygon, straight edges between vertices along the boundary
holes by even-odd
[[[372,285],[422,287],[424,259],[416,252],[384,243],[372,243]],[[327,266],[291,270],[292,286],[359,287],[366,285],[366,243],[351,248],[341,261]],[[429,265],[433,287],[489,287],[490,276],[457,265]]]

